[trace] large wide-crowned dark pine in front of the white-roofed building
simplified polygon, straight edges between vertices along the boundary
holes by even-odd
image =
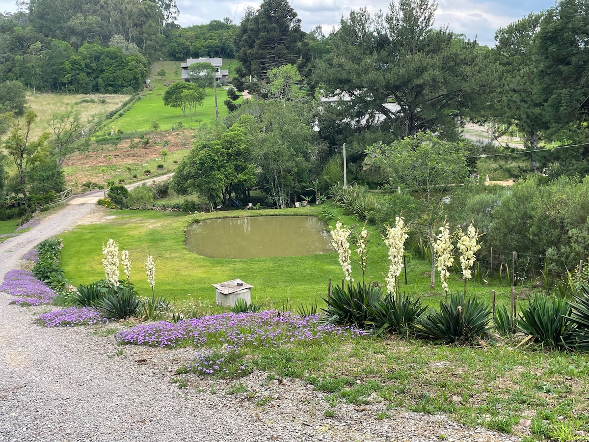
[[[330,109],[335,120],[383,127],[389,137],[429,130],[456,138],[459,118],[477,113],[493,84],[476,42],[433,28],[435,9],[428,0],[400,0],[384,16],[362,8],[342,18],[313,80],[340,98]]]

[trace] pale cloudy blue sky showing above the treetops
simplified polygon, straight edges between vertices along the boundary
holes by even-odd
[[[239,24],[247,6],[257,9],[261,1],[256,0],[177,0],[180,9],[178,24],[183,27],[201,25],[224,17]],[[323,27],[329,35],[339,24],[342,15],[348,17],[352,9],[366,6],[369,12],[386,11],[388,0],[291,0],[291,6],[302,20],[303,31],[309,32],[316,25]],[[465,34],[479,44],[494,46],[495,31],[509,23],[525,17],[530,12],[540,12],[554,6],[555,0],[438,0],[436,27],[448,25],[452,31]],[[0,11],[16,11],[14,0],[0,0]]]

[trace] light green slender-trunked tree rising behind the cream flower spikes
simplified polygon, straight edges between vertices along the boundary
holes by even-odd
[[[422,204],[430,243],[434,225],[444,219],[444,200],[456,194],[468,180],[465,142],[439,140],[432,133],[419,133],[389,145],[375,144],[366,150],[365,166],[376,165],[388,171],[394,189],[416,194]],[[435,252],[432,246],[431,287],[435,283]]]

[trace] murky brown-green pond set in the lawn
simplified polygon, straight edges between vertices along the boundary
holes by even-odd
[[[315,216],[209,219],[186,230],[188,250],[208,258],[271,258],[333,252],[331,235]]]

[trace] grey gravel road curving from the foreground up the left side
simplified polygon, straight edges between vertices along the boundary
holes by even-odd
[[[75,199],[0,244],[0,281],[25,252],[95,207]],[[311,385],[263,373],[239,389],[237,381],[175,375],[193,349],[119,347],[110,325],[41,328],[34,315],[46,308],[8,305],[10,298],[0,293],[0,442],[519,440],[441,416],[389,410],[376,420],[385,409],[378,401],[332,409]],[[328,409],[335,417],[324,417]]]

